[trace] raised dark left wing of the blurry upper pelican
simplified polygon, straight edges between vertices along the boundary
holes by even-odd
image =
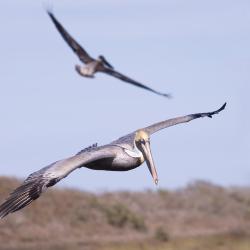
[[[83,63],[90,63],[94,61],[94,59],[86,52],[85,49],[81,47],[79,43],[64,29],[60,22],[57,21],[53,13],[47,10],[48,15],[50,16],[52,22],[56,26],[59,33],[62,35],[63,39],[66,43],[71,47],[71,49],[77,54],[79,59]]]

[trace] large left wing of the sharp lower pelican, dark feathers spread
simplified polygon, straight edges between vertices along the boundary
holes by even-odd
[[[48,187],[55,185],[75,169],[96,160],[115,157],[115,151],[112,149],[108,146],[88,148],[75,156],[54,162],[30,174],[1,204],[0,218],[27,206],[39,198]]]

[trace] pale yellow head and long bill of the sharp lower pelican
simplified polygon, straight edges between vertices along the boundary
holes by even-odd
[[[150,174],[153,177],[155,184],[158,183],[158,175],[153,161],[151,149],[150,149],[150,137],[144,130],[138,130],[135,134],[135,145],[141,151]]]

